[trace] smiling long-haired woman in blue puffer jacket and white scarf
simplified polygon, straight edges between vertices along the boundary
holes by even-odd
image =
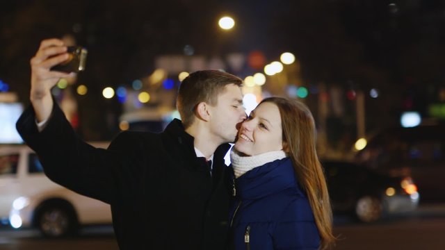
[[[332,210],[315,149],[314,118],[299,101],[264,99],[231,152],[233,249],[328,249]]]

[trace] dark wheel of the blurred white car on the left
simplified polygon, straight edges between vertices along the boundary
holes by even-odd
[[[37,218],[38,228],[44,236],[60,238],[76,230],[76,219],[72,210],[61,205],[43,206]]]

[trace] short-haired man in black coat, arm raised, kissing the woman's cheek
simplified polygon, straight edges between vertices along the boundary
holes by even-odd
[[[95,149],[76,136],[50,94],[69,76],[49,70],[67,60],[66,51],[61,40],[42,41],[31,59],[32,107],[17,122],[45,174],[109,203],[120,249],[225,249],[230,188],[223,158],[245,119],[241,79],[195,72],[179,88],[182,124],[175,119],[159,134],[123,132],[107,150]]]

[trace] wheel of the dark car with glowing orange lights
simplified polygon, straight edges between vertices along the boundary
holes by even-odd
[[[355,204],[355,215],[361,222],[375,222],[382,215],[382,203],[380,199],[364,196]]]

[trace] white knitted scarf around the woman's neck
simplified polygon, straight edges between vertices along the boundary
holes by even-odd
[[[257,156],[239,156],[235,149],[232,149],[230,152],[230,162],[234,168],[235,178],[242,176],[245,172],[248,172],[255,167],[271,163],[274,160],[281,160],[282,158],[286,158],[286,153],[282,150],[269,151]]]

